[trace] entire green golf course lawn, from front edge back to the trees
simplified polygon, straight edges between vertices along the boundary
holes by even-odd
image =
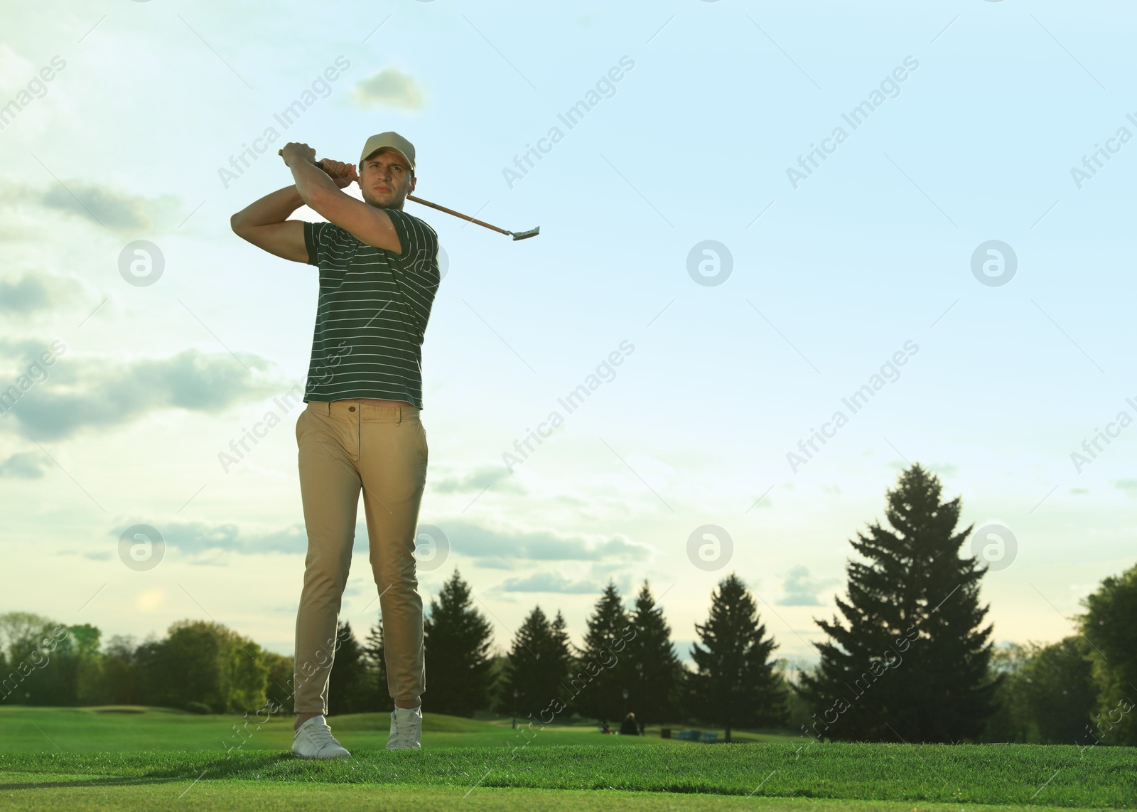
[[[55,727],[48,730],[41,722],[51,726],[52,714]],[[342,734],[354,757],[312,762],[288,754],[287,721],[264,726],[229,757],[217,736],[217,744],[206,741],[197,752],[139,745],[133,752],[109,752],[109,747],[96,752],[68,747],[72,739],[67,737],[83,739],[84,726],[121,737],[132,720],[139,730],[149,726],[150,735],[184,734],[199,730],[202,722],[216,724],[217,718],[153,710],[5,709],[0,711],[0,741],[9,752],[0,753],[0,807],[69,812],[161,809],[176,802],[217,810],[354,810],[450,809],[460,803],[506,810],[617,804],[675,810],[745,805],[763,812],[979,812],[994,807],[1010,812],[1137,806],[1134,747],[810,744],[806,739],[698,745],[601,736],[587,727],[546,729],[530,734],[526,744],[521,732],[509,729],[508,720],[442,716],[431,722],[429,735],[424,732],[422,751],[387,752],[381,745],[349,744],[351,736],[360,741],[375,737],[373,726],[382,718],[345,716],[339,724],[333,719],[337,735]],[[39,740],[25,737],[17,723],[30,727]],[[280,746],[252,745],[258,737],[267,743],[269,735],[281,734],[285,739]],[[492,746],[428,744],[430,737],[473,741],[491,735],[496,737]],[[576,744],[564,744],[566,739]],[[9,746],[13,741],[23,746]],[[119,749],[128,745],[127,739],[116,741]],[[183,741],[181,746],[189,745]]]

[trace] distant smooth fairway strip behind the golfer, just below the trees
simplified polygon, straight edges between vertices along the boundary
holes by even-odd
[[[262,719],[265,714],[262,715]],[[198,715],[160,707],[23,707],[0,705],[0,753],[140,751],[140,749],[288,749],[292,746],[292,716],[276,714],[259,728],[254,716]],[[385,713],[357,713],[330,716],[335,737],[348,749],[380,748],[387,744],[390,716]],[[235,729],[234,729],[235,728]],[[549,726],[534,738],[533,746],[596,744],[609,747],[642,746],[658,743],[658,728],[645,737],[605,736],[595,726]],[[508,719],[479,721],[437,713],[423,715],[425,747],[513,746],[518,734]],[[720,732],[721,736],[721,732]],[[791,741],[790,736],[739,734],[740,741]],[[698,747],[686,741],[678,746]]]

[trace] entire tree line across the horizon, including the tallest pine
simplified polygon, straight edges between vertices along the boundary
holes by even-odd
[[[455,571],[425,616],[426,693],[434,713],[495,711],[525,724],[572,716],[642,724],[786,729],[816,739],[1137,745],[1137,565],[1082,603],[1078,633],[1060,643],[995,648],[985,570],[960,548],[958,497],[920,464],[886,494],[888,527],[850,541],[840,616],[818,621],[816,666],[796,674],[755,595],[731,573],[695,624],[690,665],[645,581],[630,606],[614,583],[587,619],[580,646],[561,612],[534,606],[493,653],[492,624]],[[382,625],[358,639],[338,630],[330,713],[387,711]],[[5,677],[6,674],[6,677]],[[291,712],[292,660],[218,623],[180,621],[161,640],[100,645],[92,625],[0,615],[0,702],[146,704],[202,713]]]

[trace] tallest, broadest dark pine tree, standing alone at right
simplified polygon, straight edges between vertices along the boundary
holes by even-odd
[[[940,502],[939,478],[919,463],[887,491],[885,515],[853,549],[844,622],[818,621],[821,662],[802,678],[814,736],[856,740],[956,741],[982,732],[999,678],[988,677],[990,624],[980,628],[985,570],[960,557],[960,497]],[[879,685],[878,685],[879,681]]]

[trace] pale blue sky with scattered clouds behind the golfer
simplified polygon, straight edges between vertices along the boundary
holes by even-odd
[[[534,604],[579,639],[608,579],[648,579],[689,640],[737,570],[779,654],[812,660],[848,540],[912,462],[962,497],[961,529],[1014,537],[984,581],[996,640],[1070,633],[1078,600],[1134,563],[1137,72],[1120,2],[6,14],[0,382],[36,380],[0,419],[0,610],[140,638],[213,618],[291,651],[297,409],[274,398],[302,387],[316,272],[229,217],[291,182],[285,142],[355,161],[385,130],[417,149],[416,194],[541,227],[512,242],[406,206],[448,260],[424,343],[421,522],[450,550],[421,582],[433,594],[457,566],[499,645]],[[1072,172],[1084,159],[1092,176]],[[151,284],[121,273],[135,240],[163,258]],[[44,380],[30,368],[49,350]],[[559,407],[613,353],[614,375]],[[878,374],[852,413],[843,398]],[[558,408],[511,471],[504,455]],[[795,463],[814,431],[827,442]],[[1076,464],[1098,432],[1111,441]],[[166,542],[151,569],[119,557],[139,524]],[[729,533],[729,561],[689,557],[705,525]],[[367,625],[373,598],[360,554],[343,616]]]

